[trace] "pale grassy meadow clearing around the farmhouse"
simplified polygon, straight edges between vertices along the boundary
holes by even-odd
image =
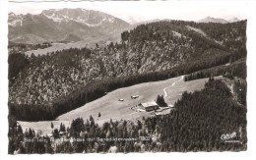
[[[221,77],[218,77],[221,79]],[[50,124],[53,122],[55,128],[59,129],[60,123],[65,126],[70,126],[71,121],[76,118],[89,119],[92,115],[98,125],[112,119],[115,120],[141,120],[143,117],[151,116],[152,112],[135,112],[131,109],[134,105],[143,102],[156,100],[157,96],[164,95],[163,89],[167,93],[165,102],[173,105],[184,91],[193,92],[204,88],[205,82],[208,79],[184,81],[182,77],[169,80],[160,80],[154,82],[145,82],[129,87],[123,87],[114,91],[108,92],[105,96],[96,99],[93,102],[87,103],[83,107],[70,111],[59,116],[56,121],[43,122],[19,122],[22,128],[32,128],[34,131],[40,130],[42,133],[51,133]],[[140,95],[137,99],[131,99],[132,95]],[[118,101],[118,99],[124,101]],[[100,112],[101,117],[97,115]]]

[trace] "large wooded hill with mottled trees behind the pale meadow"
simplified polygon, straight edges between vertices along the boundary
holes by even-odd
[[[19,54],[24,60],[20,65],[10,57],[10,67],[21,66],[9,69],[10,113],[19,120],[54,119],[118,87],[190,74],[228,63],[232,56],[245,57],[246,21],[221,26],[157,22],[124,31],[121,43],[102,48],[96,44],[37,57]]]

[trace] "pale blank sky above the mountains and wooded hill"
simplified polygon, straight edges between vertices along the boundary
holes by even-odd
[[[17,0],[16,0],[17,1]],[[21,2],[22,0],[19,0]],[[39,14],[42,10],[61,8],[84,8],[101,11],[129,23],[154,19],[198,21],[207,16],[246,19],[248,4],[241,0],[215,1],[108,1],[108,2],[24,2],[8,3],[8,12],[15,14]],[[55,0],[56,1],[56,0]],[[76,0],[75,0],[76,1]]]

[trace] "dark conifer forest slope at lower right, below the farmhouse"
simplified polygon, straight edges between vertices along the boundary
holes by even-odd
[[[184,92],[174,106],[168,116],[146,121],[150,129],[157,130],[161,151],[246,149],[246,106],[232,100],[229,88],[221,80],[210,79],[205,89]],[[238,143],[221,139],[222,134],[233,132],[236,136],[232,140]]]

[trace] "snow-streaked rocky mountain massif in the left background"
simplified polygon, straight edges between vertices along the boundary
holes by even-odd
[[[79,41],[130,27],[111,15],[86,9],[50,9],[38,15],[8,15],[9,41],[41,43]]]

